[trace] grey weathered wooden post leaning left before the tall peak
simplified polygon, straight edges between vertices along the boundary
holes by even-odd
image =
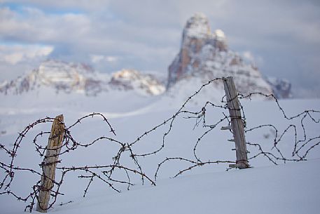
[[[249,161],[246,150],[246,138],[244,137],[244,123],[242,121],[238,93],[232,76],[223,78],[225,95],[228,102],[228,109],[231,119],[231,127],[223,127],[222,130],[232,129],[233,140],[235,141],[236,164],[230,164],[232,168],[249,168]]]

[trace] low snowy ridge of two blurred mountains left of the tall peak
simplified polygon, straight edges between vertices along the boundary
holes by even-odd
[[[158,95],[165,86],[153,74],[142,74],[135,70],[102,74],[92,67],[81,64],[47,60],[38,69],[0,85],[0,93],[12,95],[28,91],[53,88],[57,93],[84,93],[97,95],[103,91],[134,90],[140,95]]]

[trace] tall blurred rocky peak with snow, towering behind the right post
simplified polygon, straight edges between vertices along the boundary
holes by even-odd
[[[181,50],[169,65],[167,88],[189,76],[197,76],[204,81],[234,76],[239,93],[272,93],[272,87],[258,69],[228,49],[221,29],[211,33],[209,22],[202,14],[195,14],[183,29]]]

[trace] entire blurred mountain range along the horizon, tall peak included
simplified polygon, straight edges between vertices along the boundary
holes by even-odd
[[[170,96],[177,96],[177,91],[192,91],[190,86],[195,86],[195,82],[202,84],[221,76],[234,76],[239,93],[262,92],[274,93],[277,98],[291,97],[291,83],[264,78],[257,67],[230,51],[223,31],[217,29],[212,33],[208,19],[199,13],[193,15],[183,29],[181,49],[169,65],[167,79],[132,69],[102,74],[85,64],[47,60],[24,76],[0,83],[0,93],[19,95],[47,87],[57,93],[88,96],[113,91],[134,91],[143,96],[167,91]],[[214,87],[223,91],[221,84]]]

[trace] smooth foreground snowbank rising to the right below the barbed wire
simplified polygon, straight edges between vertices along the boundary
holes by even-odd
[[[320,161],[161,180],[122,194],[99,194],[53,213],[319,213]]]

